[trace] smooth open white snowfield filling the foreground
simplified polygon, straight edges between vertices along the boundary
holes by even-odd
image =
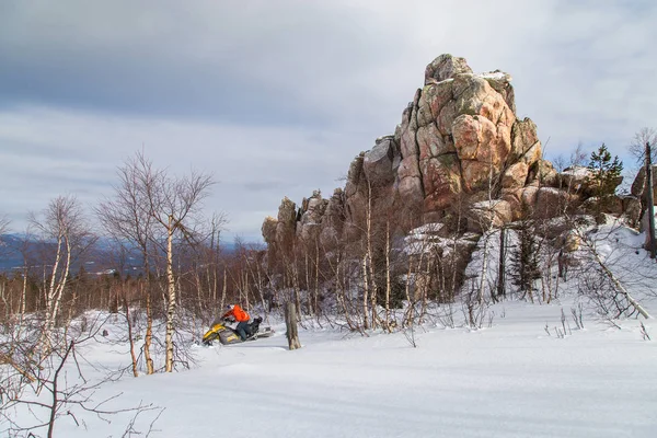
[[[586,314],[585,330],[549,335],[562,307],[568,314],[563,303],[506,302],[484,330],[417,331],[417,348],[402,333],[315,328],[289,351],[276,326],[270,338],[196,347],[188,371],[107,382],[94,399],[120,393],[107,407],[164,407],[152,437],[655,437],[657,343],[636,320],[618,330]],[[657,337],[657,324],[646,326]],[[127,364],[120,351],[94,345],[81,366]],[[79,413],[87,429],[62,416],[55,436],[119,437],[131,416]]]

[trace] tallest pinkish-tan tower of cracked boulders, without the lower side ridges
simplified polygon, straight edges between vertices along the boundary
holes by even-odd
[[[510,80],[498,70],[474,74],[450,55],[429,64],[402,116],[397,178],[407,206],[445,209],[500,177],[507,187],[526,185],[541,142],[535,125],[516,117]]]

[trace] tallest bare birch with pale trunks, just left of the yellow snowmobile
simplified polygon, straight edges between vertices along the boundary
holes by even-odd
[[[152,161],[137,152],[118,170],[119,185],[114,199],[101,204],[97,209],[105,229],[136,244],[143,257],[147,278],[150,258],[164,254],[166,278],[166,335],[165,370],[173,371],[175,312],[177,304],[176,278],[174,276],[174,240],[194,240],[195,219],[200,203],[214,184],[209,175],[192,171],[188,176],[174,177],[164,170],[157,170]],[[152,336],[150,292],[147,291],[147,335],[145,356]],[[152,360],[146,358],[148,372],[153,372]]]

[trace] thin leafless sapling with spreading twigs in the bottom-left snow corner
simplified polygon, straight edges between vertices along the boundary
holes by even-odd
[[[120,394],[96,397],[101,387],[113,380],[112,372],[100,379],[87,379],[80,366],[84,358],[79,350],[95,342],[104,320],[81,322],[51,334],[47,354],[38,358],[35,351],[39,348],[39,332],[44,330],[39,321],[26,319],[13,327],[4,324],[8,342],[0,347],[0,434],[34,437],[43,430],[53,437],[62,418],[84,426],[89,414],[104,420],[117,414],[132,414],[128,426],[132,430],[136,416],[149,411],[159,412],[153,422],[157,420],[162,410],[151,404],[113,408],[108,404]],[[67,368],[73,368],[74,372],[67,372]]]

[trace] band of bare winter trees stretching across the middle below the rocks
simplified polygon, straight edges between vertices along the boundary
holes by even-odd
[[[654,137],[653,130],[641,131],[636,145]],[[645,159],[645,149],[633,151]],[[568,165],[583,164],[592,175],[598,199],[587,212],[599,217],[611,201],[623,164],[604,145],[588,163],[581,149],[576,150]],[[207,325],[227,302],[238,301],[267,315],[292,301],[299,316],[366,334],[407,327],[429,318],[431,304],[464,298],[463,313],[476,325],[482,322],[477,309],[504,299],[509,289],[530,300],[537,295],[545,302],[556,297],[557,278],[565,280],[570,268],[567,246],[577,240],[573,230],[555,235],[550,218],[530,208],[523,208],[520,220],[503,227],[496,227],[494,214],[481,215],[483,238],[473,238],[465,217],[472,205],[464,198],[441,219],[442,230],[431,230],[430,224],[423,230],[420,211],[399,211],[378,203],[379,187],[368,184],[366,209],[353,223],[349,239],[336,237],[326,243],[311,233],[268,249],[237,241],[234,251],[228,252],[221,241],[226,217],[203,211],[214,184],[210,175],[174,176],[138,152],[117,176],[113,196],[94,208],[101,232],[92,229],[72,196],[57,197],[41,214],[30,215],[19,249],[23,267],[0,276],[0,314],[3,321],[38,315],[38,344],[45,350],[57,327],[66,327],[87,310],[122,313],[128,323],[142,315],[146,325],[138,327],[143,328],[142,342],[132,346],[135,374],[138,368],[153,373],[184,366],[184,355],[176,353],[176,331],[189,315],[193,324]],[[495,203],[495,184],[491,178],[485,187],[484,201],[489,205]],[[576,210],[580,207],[567,200],[557,206],[570,216],[581,212]],[[9,223],[2,227],[7,231]],[[99,234],[112,242],[113,275],[92,276],[84,269]],[[474,276],[465,266],[476,244],[483,247],[484,260]],[[493,247],[497,254],[492,254]],[[139,260],[136,275],[126,274],[129,257]],[[486,273],[495,270],[494,264],[498,274],[491,279]],[[557,278],[552,266],[558,266]],[[158,324],[162,331],[155,330]],[[155,364],[153,348],[164,351],[163,364]]]

